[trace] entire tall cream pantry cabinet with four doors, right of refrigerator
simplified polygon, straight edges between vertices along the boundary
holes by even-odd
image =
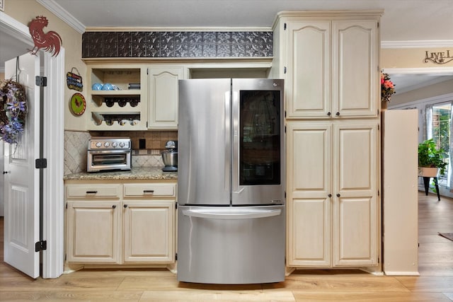
[[[287,267],[375,267],[380,250],[379,18],[287,11],[271,76],[285,79]]]

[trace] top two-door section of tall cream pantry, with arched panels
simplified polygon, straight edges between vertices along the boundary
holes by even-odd
[[[322,13],[282,12],[275,23],[287,118],[377,117],[380,15]]]

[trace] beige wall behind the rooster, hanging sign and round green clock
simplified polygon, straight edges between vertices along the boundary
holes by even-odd
[[[49,30],[54,30],[62,37],[62,47],[65,50],[65,71],[71,71],[72,67],[76,67],[82,76],[86,74],[86,65],[81,61],[81,34],[77,33],[67,23],[64,23],[53,13],[47,11],[46,8],[38,4],[35,0],[5,1],[4,12],[24,25],[28,25],[36,16],[45,16],[49,21],[49,25],[44,29],[45,33]],[[62,79],[62,81],[64,81],[65,89],[64,100],[61,101],[68,103],[67,108],[69,108],[69,99],[77,91],[67,88],[66,79]],[[86,96],[86,87],[84,87],[82,94]],[[65,129],[80,130],[85,127],[85,121],[82,121],[80,117],[71,115],[69,109],[64,112],[64,124]]]

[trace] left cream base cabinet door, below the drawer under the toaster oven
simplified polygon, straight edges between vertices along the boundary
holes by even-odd
[[[120,202],[68,202],[68,262],[120,263]]]

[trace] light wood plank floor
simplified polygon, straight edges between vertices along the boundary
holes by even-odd
[[[178,283],[167,270],[81,270],[30,279],[3,262],[0,301],[453,301],[453,200],[419,194],[420,277],[360,271],[298,270],[284,282],[243,286]]]

